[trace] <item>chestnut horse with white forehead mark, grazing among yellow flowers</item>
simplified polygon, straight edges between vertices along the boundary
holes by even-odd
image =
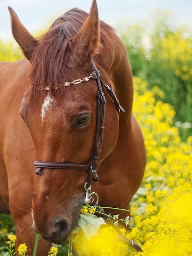
[[[86,191],[101,206],[129,209],[145,144],[125,46],[99,20],[96,0],[89,13],[67,11],[39,38],[8,8],[25,58],[0,63],[0,212],[11,213],[16,248],[25,243],[32,256],[38,233],[36,255],[45,256],[69,238]]]

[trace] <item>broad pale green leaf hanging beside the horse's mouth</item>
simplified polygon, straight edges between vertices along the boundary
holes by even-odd
[[[94,214],[86,215],[80,213],[77,224],[82,229],[87,240],[91,240],[92,236],[97,235],[100,226],[106,223],[102,217],[98,218]]]

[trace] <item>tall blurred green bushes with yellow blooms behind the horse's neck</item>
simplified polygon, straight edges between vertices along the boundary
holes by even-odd
[[[192,135],[192,33],[175,24],[170,13],[156,11],[150,20],[124,24],[120,31],[133,74],[147,81],[149,90],[154,85],[163,90],[186,140]]]

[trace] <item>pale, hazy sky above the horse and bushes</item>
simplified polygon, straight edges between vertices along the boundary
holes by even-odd
[[[33,34],[73,7],[89,12],[91,4],[92,0],[0,0],[0,38],[12,38],[8,5]],[[114,27],[119,20],[141,21],[152,10],[161,8],[175,14],[180,24],[192,28],[192,0],[97,0],[97,4],[100,19]]]

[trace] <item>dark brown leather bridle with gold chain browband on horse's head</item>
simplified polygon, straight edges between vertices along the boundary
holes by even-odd
[[[87,164],[78,164],[78,163],[62,163],[62,162],[38,162],[35,161],[34,162],[34,167],[36,167],[36,174],[37,175],[41,175],[42,174],[42,169],[43,168],[51,168],[51,169],[75,169],[75,170],[83,170],[86,171],[88,173],[88,177],[87,177],[87,182],[86,182],[86,186],[87,188],[93,184],[94,182],[96,182],[99,178],[98,174],[97,174],[97,166],[98,166],[98,159],[99,159],[99,155],[101,152],[101,149],[99,150],[99,143],[100,140],[103,141],[103,132],[105,129],[104,123],[105,123],[105,106],[106,106],[106,99],[105,99],[105,94],[103,93],[103,89],[102,89],[102,85],[103,87],[106,89],[106,91],[108,92],[108,94],[110,95],[110,97],[112,97],[114,104],[116,106],[116,109],[118,111],[118,115],[120,115],[120,111],[125,112],[125,110],[121,107],[114,91],[112,88],[110,88],[108,85],[105,85],[103,83],[103,81],[100,79],[100,73],[95,65],[94,60],[92,59],[92,63],[94,66],[94,71],[90,74],[89,77],[87,77],[87,79],[89,80],[89,78],[92,79],[96,79],[97,82],[97,87],[98,87],[98,91],[96,94],[96,100],[97,100],[97,115],[96,115],[96,130],[95,130],[95,137],[94,137],[94,143],[92,146],[92,151],[89,157],[89,160],[87,162]],[[78,81],[78,83],[81,82],[85,82],[88,80],[75,80],[72,83],[77,83],[76,81]],[[69,82],[67,82],[67,85],[64,84],[64,86],[68,86]],[[55,88],[57,89],[57,88]],[[47,90],[47,89],[45,89]]]

